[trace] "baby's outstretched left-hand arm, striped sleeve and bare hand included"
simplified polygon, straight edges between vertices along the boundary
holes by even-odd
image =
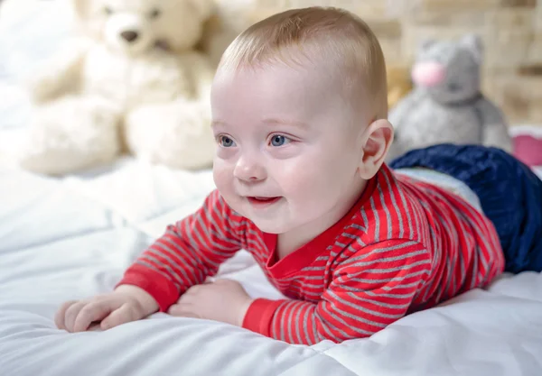
[[[192,216],[168,226],[127,269],[114,292],[64,303],[55,317],[57,326],[85,331],[101,321],[107,329],[158,310],[166,312],[182,293],[214,275],[240,249],[235,219],[218,191],[212,192]]]

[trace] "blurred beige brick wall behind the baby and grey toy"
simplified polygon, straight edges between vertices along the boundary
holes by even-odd
[[[542,0],[222,0],[239,1],[247,23],[292,7],[346,8],[369,23],[388,64],[406,69],[425,38],[477,32],[485,94],[510,122],[542,124]]]

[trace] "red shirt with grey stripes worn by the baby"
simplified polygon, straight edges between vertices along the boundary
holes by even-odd
[[[504,269],[491,222],[461,197],[384,166],[341,221],[276,260],[276,235],[239,216],[218,191],[167,228],[120,283],[148,291],[166,311],[250,252],[287,299],[257,298],[243,326],[292,344],[377,333],[416,310],[486,286]]]

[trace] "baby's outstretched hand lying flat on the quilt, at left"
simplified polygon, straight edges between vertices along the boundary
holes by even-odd
[[[84,332],[101,321],[104,330],[139,320],[156,312],[156,300],[145,290],[122,285],[114,292],[62,304],[54,317],[56,326],[68,332]]]

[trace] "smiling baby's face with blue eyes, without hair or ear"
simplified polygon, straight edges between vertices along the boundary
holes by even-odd
[[[363,124],[321,70],[276,65],[215,78],[215,183],[229,206],[263,232],[339,219],[360,188]]]

